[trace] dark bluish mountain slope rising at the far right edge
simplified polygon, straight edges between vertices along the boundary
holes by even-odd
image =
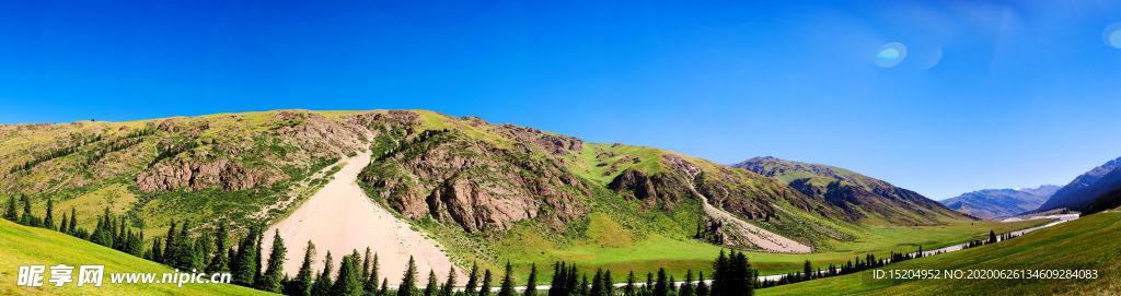
[[[1087,204],[1111,191],[1121,189],[1121,157],[1078,175],[1055,192],[1037,211],[1067,208],[1083,210]]]

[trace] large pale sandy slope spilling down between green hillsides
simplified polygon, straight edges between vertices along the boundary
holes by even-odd
[[[425,237],[425,233],[413,230],[407,222],[373,203],[355,183],[359,172],[370,163],[369,152],[341,162],[346,164],[335,173],[334,180],[319,189],[291,216],[269,227],[262,240],[265,254],[271,249],[272,236],[279,229],[288,248],[284,270],[289,276],[295,276],[298,271],[304,249],[307,241],[312,240],[317,251],[316,264],[313,265],[316,270],[323,269],[327,250],[334,257],[337,273],[343,255],[351,254],[354,249],[361,254],[370,247],[371,251],[378,252],[380,259],[379,276],[388,277],[391,285],[399,284],[410,255],[416,258],[417,271],[421,278],[427,277],[429,269],[434,269],[441,279],[447,278],[447,270],[453,264],[443,248],[435,240]],[[458,268],[456,274],[457,278],[465,278]]]

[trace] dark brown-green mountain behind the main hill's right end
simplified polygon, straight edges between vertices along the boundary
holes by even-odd
[[[731,166],[773,178],[837,207],[845,212],[849,221],[938,225],[944,219],[967,219],[914,191],[841,168],[770,156],[750,159]]]

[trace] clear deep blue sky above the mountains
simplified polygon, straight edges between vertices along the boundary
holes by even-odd
[[[7,2],[0,123],[423,108],[934,199],[1121,156],[1115,2]]]

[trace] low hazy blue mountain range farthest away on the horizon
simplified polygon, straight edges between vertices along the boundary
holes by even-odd
[[[984,189],[943,200],[942,203],[956,211],[981,218],[1017,216],[1038,209],[1062,187]]]

